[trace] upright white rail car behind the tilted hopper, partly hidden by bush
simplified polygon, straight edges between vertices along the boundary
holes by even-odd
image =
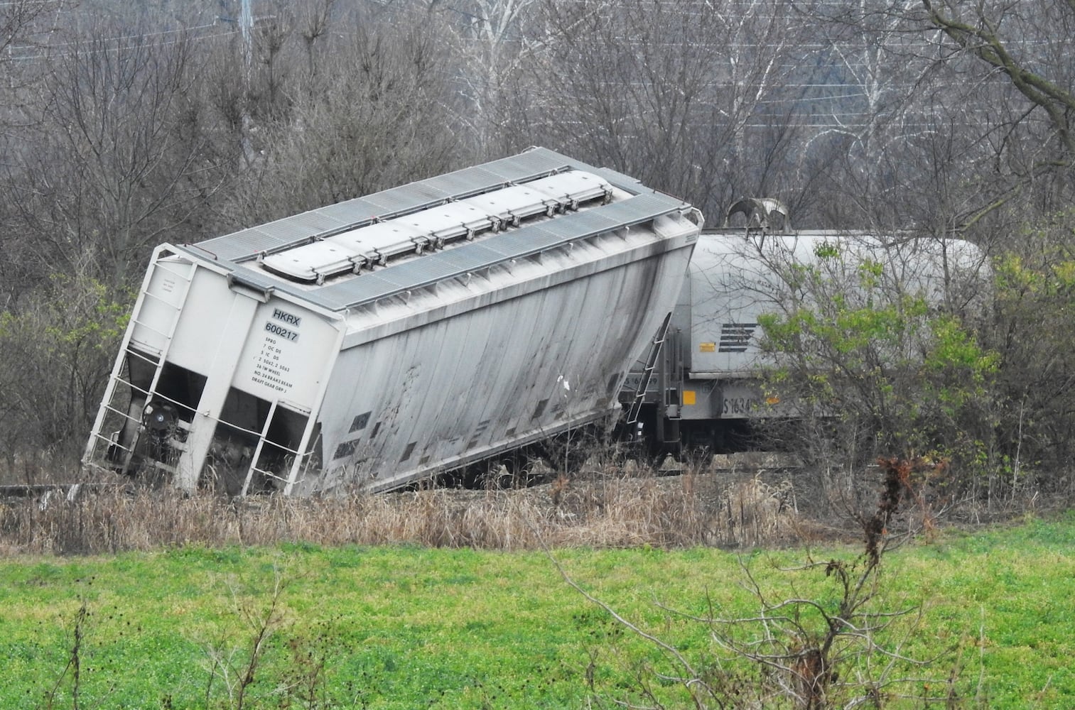
[[[973,244],[865,232],[716,229],[699,237],[687,281],[660,356],[646,373],[635,362],[620,400],[632,426],[656,450],[680,445],[733,451],[751,420],[793,416],[789,403],[765,402],[759,316],[780,314],[791,300],[789,275],[812,265],[832,285],[858,282],[859,265],[878,264],[877,286],[921,294],[955,310],[980,308],[989,267]],[[801,294],[800,294],[801,295]],[[643,351],[640,351],[643,352]]]

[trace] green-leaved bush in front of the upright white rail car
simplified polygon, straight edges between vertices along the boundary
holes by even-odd
[[[801,417],[786,445],[848,467],[890,454],[974,461],[999,365],[964,320],[974,310],[900,282],[889,273],[900,264],[835,245],[815,256],[780,274],[783,309],[759,318],[775,363],[766,387]]]

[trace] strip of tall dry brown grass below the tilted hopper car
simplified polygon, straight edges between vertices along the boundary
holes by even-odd
[[[756,546],[798,539],[791,483],[747,472],[605,466],[518,490],[333,498],[183,495],[113,486],[0,505],[0,552],[92,554],[198,545],[400,545],[498,550]]]

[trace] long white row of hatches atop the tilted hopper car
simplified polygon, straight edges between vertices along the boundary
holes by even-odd
[[[326,278],[387,265],[402,255],[421,255],[484,232],[518,227],[534,217],[554,217],[598,200],[605,204],[612,195],[606,180],[569,170],[334,234],[266,256],[260,264],[285,278],[319,285]]]

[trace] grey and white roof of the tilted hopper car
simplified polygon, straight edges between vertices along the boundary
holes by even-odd
[[[571,212],[597,200],[600,206]],[[688,209],[621,173],[532,148],[177,249],[264,299],[282,291],[345,310]],[[561,211],[568,214],[499,231]],[[404,253],[425,256],[384,267]]]

